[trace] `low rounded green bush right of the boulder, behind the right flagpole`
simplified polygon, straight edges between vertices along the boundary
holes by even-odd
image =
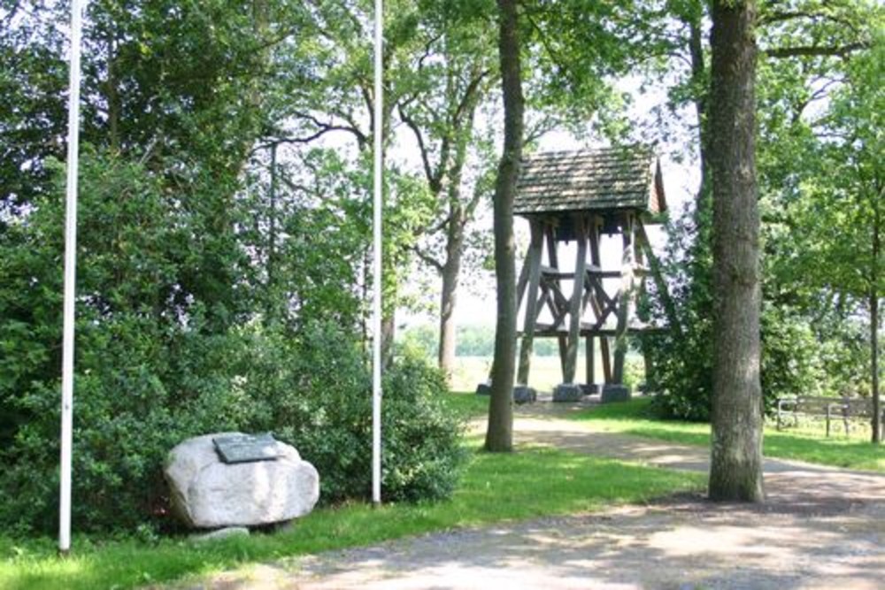
[[[312,324],[289,352],[277,342],[263,361],[250,363],[261,379],[269,410],[260,425],[319,471],[320,501],[368,498],[371,493],[372,379],[358,347],[335,326]],[[288,356],[280,358],[279,356]],[[282,374],[279,367],[286,367]],[[447,389],[440,372],[417,356],[397,359],[385,374],[382,402],[382,487],[398,501],[448,497],[458,481],[464,450],[462,425],[443,405]],[[247,385],[247,388],[251,386]],[[276,389],[271,394],[270,390]]]

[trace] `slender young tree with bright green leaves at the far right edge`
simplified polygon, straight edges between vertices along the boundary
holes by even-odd
[[[829,96],[828,110],[813,121],[816,135],[809,139],[812,151],[805,158],[809,170],[789,209],[796,248],[789,277],[816,291],[840,295],[847,316],[866,312],[873,443],[881,442],[881,421],[875,417],[881,416],[878,336],[885,293],[885,178],[880,157],[885,95],[878,84],[883,48],[877,39],[869,50],[843,64],[844,77]]]

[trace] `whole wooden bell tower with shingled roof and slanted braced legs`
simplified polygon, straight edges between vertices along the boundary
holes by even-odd
[[[596,393],[597,342],[603,400],[629,397],[623,384],[628,339],[654,329],[643,326],[635,314],[647,277],[656,280],[666,307],[672,307],[645,231],[664,211],[660,165],[650,149],[552,152],[524,160],[514,212],[527,218],[531,242],[517,285],[523,321],[516,399],[527,389],[536,338],[558,341],[563,380],[553,392],[554,401]],[[604,268],[603,236],[612,236],[617,244],[616,267]],[[562,266],[560,247],[572,242],[574,265]],[[581,338],[585,384],[575,381]]]

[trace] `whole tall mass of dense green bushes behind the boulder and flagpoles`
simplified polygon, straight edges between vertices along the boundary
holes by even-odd
[[[62,194],[44,195],[0,232],[0,527],[10,533],[50,532],[58,521]],[[367,497],[371,376],[359,337],[311,320],[355,326],[350,292],[308,276],[343,273],[299,258],[304,281],[284,274],[276,286],[297,310],[270,321],[264,281],[242,272],[236,244],[200,242],[212,232],[179,198],[142,165],[84,151],[74,528],[171,525],[166,454],[219,431],[272,431],[295,444],[319,469],[323,502]],[[308,246],[299,248],[323,250]],[[462,450],[442,387],[408,358],[388,373],[391,500],[454,487]]]

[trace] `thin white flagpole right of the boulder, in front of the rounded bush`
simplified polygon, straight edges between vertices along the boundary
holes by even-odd
[[[381,504],[381,155],[384,130],[381,85],[384,3],[375,0],[374,190],[373,190],[373,346],[372,346],[372,502]]]

